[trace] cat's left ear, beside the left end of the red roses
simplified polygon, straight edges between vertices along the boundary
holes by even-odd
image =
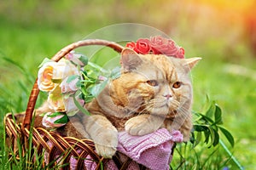
[[[143,60],[140,58],[139,54],[137,54],[131,48],[124,48],[121,53],[120,63],[124,69],[124,71],[132,71],[135,70],[139,65],[141,65]]]

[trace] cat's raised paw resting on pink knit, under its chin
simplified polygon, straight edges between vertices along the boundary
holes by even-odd
[[[147,121],[133,117],[125,122],[125,131],[131,135],[143,136],[144,134],[153,133],[154,129],[148,126]]]

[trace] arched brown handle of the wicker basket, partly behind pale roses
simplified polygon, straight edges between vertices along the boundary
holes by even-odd
[[[82,46],[89,46],[89,45],[107,46],[109,48],[113,48],[118,53],[121,53],[121,51],[124,48],[116,42],[109,42],[107,40],[101,40],[101,39],[87,39],[79,42],[73,42],[72,44],[67,45],[65,48],[62,48],[57,54],[55,54],[51,59],[57,62],[61,58],[63,58],[65,55],[70,53],[73,49],[79,48]],[[32,121],[32,114],[36,105],[36,101],[38,99],[38,94],[39,94],[39,89],[38,89],[38,79],[37,79],[36,82],[34,82],[32,92],[28,99],[28,103],[26,107],[26,116],[21,126],[21,129],[23,132],[25,132],[25,128],[26,129],[30,128],[31,121]]]

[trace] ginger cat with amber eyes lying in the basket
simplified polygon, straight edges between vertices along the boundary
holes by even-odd
[[[193,127],[189,72],[200,59],[142,55],[131,48],[123,49],[120,77],[85,105],[90,116],[71,116],[61,133],[92,139],[96,152],[106,158],[116,152],[119,131],[144,135],[165,127],[180,130],[183,141],[188,141]],[[37,115],[46,112],[45,107],[39,108]],[[42,126],[41,120],[36,116],[35,124]]]

